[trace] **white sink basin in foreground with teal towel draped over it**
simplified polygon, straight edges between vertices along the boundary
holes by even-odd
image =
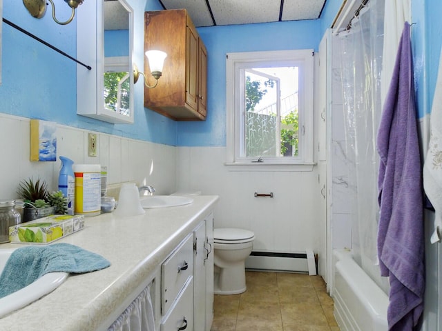
[[[5,268],[6,261],[10,254],[14,252],[12,249],[0,249],[0,274]],[[6,316],[10,312],[23,308],[26,305],[44,297],[44,295],[55,290],[68,277],[68,272],[50,272],[29,284],[26,288],[22,288],[17,292],[11,293],[0,299],[0,318]]]

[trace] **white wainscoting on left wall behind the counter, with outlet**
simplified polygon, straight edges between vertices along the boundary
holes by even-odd
[[[97,134],[97,157],[88,157],[88,130],[57,126],[57,161],[29,161],[29,119],[0,114],[0,199],[17,199],[21,179],[40,177],[49,190],[57,190],[60,155],[75,163],[98,163],[108,167],[108,184],[131,181],[152,185],[157,194],[175,192],[175,147]]]

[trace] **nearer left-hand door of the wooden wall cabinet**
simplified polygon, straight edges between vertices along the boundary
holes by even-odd
[[[186,26],[186,103],[198,111],[198,34]]]

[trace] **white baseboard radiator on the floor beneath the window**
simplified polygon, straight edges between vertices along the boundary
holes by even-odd
[[[305,252],[251,252],[246,259],[246,268],[251,270],[273,270],[317,274],[317,258],[312,250]]]

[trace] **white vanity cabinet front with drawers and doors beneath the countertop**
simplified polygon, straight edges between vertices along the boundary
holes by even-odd
[[[213,213],[177,245],[159,269],[155,275],[148,277],[151,279],[155,330],[210,331],[213,321]],[[140,312],[140,309],[137,308],[137,311]],[[146,316],[146,312],[141,313]],[[151,315],[148,312],[148,316]],[[129,314],[124,318],[132,319]],[[131,325],[124,330],[151,331],[137,326],[137,322],[117,321],[113,330],[123,330],[114,325],[124,324],[126,327]]]

